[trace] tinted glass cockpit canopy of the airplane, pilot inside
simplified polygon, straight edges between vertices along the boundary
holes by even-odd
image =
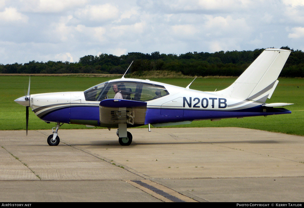
[[[161,85],[141,81],[106,81],[85,90],[85,100],[102,101],[104,99],[113,99],[116,94],[114,92],[115,88],[126,100],[146,102],[169,95],[166,88]]]

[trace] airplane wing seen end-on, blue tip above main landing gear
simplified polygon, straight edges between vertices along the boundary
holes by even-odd
[[[106,99],[99,103],[99,122],[103,127],[141,126],[145,123],[147,102],[122,99]]]

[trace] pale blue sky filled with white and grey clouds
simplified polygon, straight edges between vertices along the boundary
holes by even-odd
[[[0,64],[282,46],[304,51],[304,0],[0,0]]]

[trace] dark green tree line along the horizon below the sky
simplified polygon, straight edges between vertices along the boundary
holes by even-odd
[[[291,50],[288,46],[281,49]],[[100,54],[81,57],[79,62],[30,61],[25,64],[0,64],[2,74],[124,74],[132,61],[130,72],[175,71],[190,76],[239,76],[264,49],[243,51],[188,52],[186,54],[151,54],[131,52],[115,56]],[[293,50],[280,77],[304,77],[304,52]]]

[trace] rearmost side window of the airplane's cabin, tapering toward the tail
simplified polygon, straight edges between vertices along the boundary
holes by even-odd
[[[169,95],[169,92],[164,86],[142,83],[140,85],[140,95],[138,101],[154,100],[163,96]]]

